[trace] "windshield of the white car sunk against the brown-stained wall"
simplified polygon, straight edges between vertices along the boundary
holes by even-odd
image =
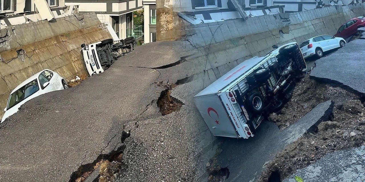
[[[39,90],[37,79],[27,83],[19,90],[15,91],[9,96],[8,107],[7,109],[15,106],[19,102],[22,102],[27,97],[33,95],[35,92]]]

